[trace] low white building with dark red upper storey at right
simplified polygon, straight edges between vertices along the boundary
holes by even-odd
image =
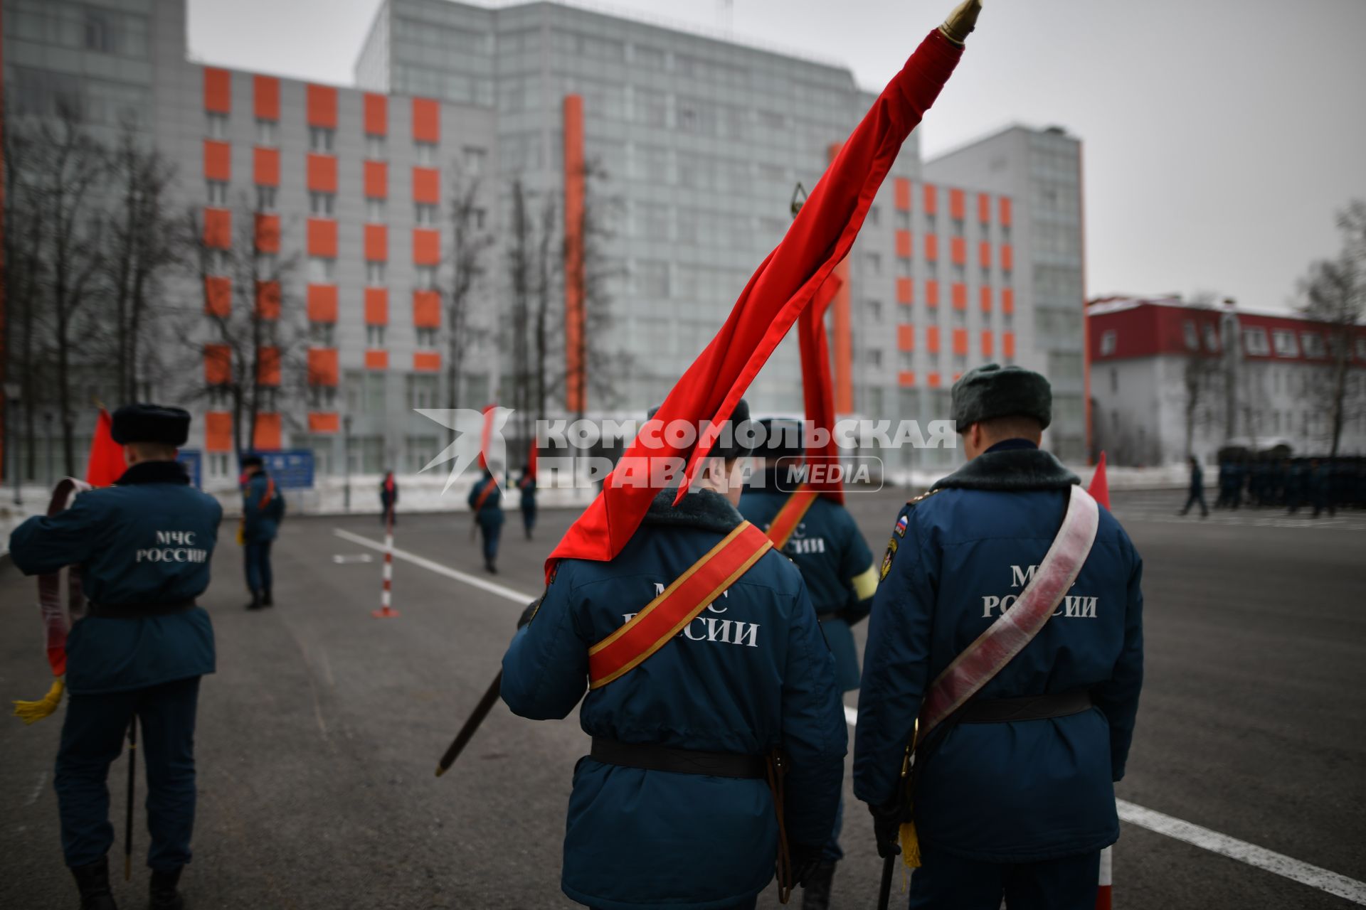
[[[1121,465],[1213,461],[1224,446],[1329,452],[1335,330],[1179,297],[1087,307],[1096,445]],[[1339,454],[1366,454],[1366,326],[1350,333]]]

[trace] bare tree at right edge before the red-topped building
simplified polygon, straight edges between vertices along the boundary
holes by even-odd
[[[1366,315],[1366,201],[1352,201],[1337,214],[1343,248],[1333,259],[1313,263],[1300,281],[1300,312],[1324,325],[1328,357],[1315,383],[1318,409],[1328,419],[1329,457],[1337,456],[1347,411],[1347,371],[1356,326]]]

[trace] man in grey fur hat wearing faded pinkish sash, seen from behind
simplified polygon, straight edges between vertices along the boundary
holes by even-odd
[[[953,386],[967,464],[900,513],[865,652],[854,793],[897,850],[902,767],[932,681],[1009,608],[1078,483],[1040,450],[1048,381],[994,364]],[[921,744],[908,789],[922,865],[911,907],[1091,910],[1119,838],[1142,684],[1142,561],[1108,510],[1042,630]]]

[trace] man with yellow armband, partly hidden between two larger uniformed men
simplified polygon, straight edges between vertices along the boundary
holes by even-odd
[[[796,483],[788,468],[802,463],[802,424],[796,420],[761,420],[765,445],[755,450],[753,480],[740,497],[740,514],[765,531],[788,501]],[[759,457],[762,456],[762,457]],[[848,510],[825,497],[817,498],[783,546],[800,570],[811,606],[835,655],[835,679],[840,692],[858,689],[858,648],[851,628],[867,618],[877,589],[877,563]],[[805,910],[829,906],[835,865],[844,858],[839,838],[844,801],[821,854],[821,864],[806,880]]]

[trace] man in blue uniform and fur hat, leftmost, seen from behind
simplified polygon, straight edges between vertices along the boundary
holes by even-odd
[[[79,565],[87,615],[67,640],[67,705],[55,786],[61,849],[82,910],[112,910],[105,854],[109,764],[134,718],[142,723],[148,775],[153,910],[182,906],[176,885],[194,828],[194,719],[199,677],[213,673],[213,628],[194,600],[209,587],[223,508],[190,486],[176,463],[190,415],[128,405],[113,439],[128,469],[66,512],[34,517],[10,535],[25,574]]]

